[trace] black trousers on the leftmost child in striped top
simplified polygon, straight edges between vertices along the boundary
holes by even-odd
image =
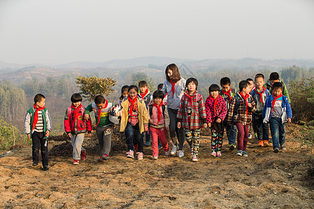
[[[33,163],[39,162],[39,149],[41,150],[41,159],[43,166],[48,166],[48,139],[45,138],[45,132],[33,132],[31,134],[32,140],[32,154]]]

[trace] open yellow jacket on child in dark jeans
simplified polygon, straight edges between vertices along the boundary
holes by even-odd
[[[120,132],[124,132],[126,130],[126,124],[128,123],[128,99],[125,99],[121,106],[123,107],[122,116],[121,116],[121,125]],[[144,132],[144,124],[148,125],[149,116],[147,113],[146,105],[144,100],[137,97],[137,107],[138,107],[138,125],[140,127],[140,133]]]

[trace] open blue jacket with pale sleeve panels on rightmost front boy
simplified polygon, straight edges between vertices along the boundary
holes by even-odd
[[[274,96],[271,94],[267,97],[264,110],[263,110],[263,123],[268,123],[271,118],[271,102],[274,100]],[[292,110],[288,99],[285,95],[283,95],[283,107],[281,108],[281,120],[283,123],[287,121],[287,118],[292,118]]]

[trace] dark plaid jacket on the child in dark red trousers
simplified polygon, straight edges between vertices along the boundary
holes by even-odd
[[[246,116],[246,102],[239,93],[232,98],[230,103],[230,109],[227,114],[228,123],[242,123],[248,125],[252,122],[252,112],[256,110],[256,104],[250,95],[248,97],[248,103],[252,104],[252,108],[248,108],[248,116]],[[236,106],[238,108],[236,108]]]

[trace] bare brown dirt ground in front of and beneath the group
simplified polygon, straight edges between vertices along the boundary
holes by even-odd
[[[50,139],[50,170],[31,167],[31,148],[0,158],[0,208],[314,208],[313,150],[301,147],[297,125],[287,127],[287,150],[274,153],[248,144],[248,157],[228,150],[211,157],[210,137],[200,140],[200,161],[126,158],[115,134],[107,162],[96,162],[95,134],[86,138],[87,160],[74,166],[70,141]]]

